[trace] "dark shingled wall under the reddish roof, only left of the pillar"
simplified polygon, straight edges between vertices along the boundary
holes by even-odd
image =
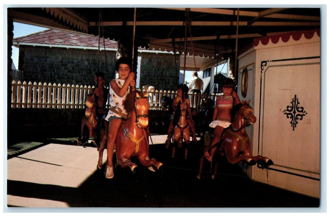
[[[100,71],[106,83],[114,77],[116,51],[100,51]],[[19,46],[18,70],[23,71],[24,81],[93,85],[97,72],[98,50],[74,48]]]

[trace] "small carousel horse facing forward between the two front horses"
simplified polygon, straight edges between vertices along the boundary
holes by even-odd
[[[175,147],[178,146],[182,148],[183,140],[185,142],[185,152],[184,158],[187,159],[188,146],[190,144],[190,129],[186,121],[186,112],[187,109],[190,109],[186,103],[181,103],[180,105],[181,113],[179,122],[175,125],[173,129],[173,148],[172,148],[172,157],[175,156]]]

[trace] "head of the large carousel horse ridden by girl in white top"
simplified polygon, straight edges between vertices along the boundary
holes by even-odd
[[[135,112],[136,123],[139,128],[146,128],[149,124],[149,93],[143,94],[142,92],[136,92],[135,94]]]

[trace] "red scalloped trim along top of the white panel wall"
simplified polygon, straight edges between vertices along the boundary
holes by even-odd
[[[289,41],[290,37],[292,36],[292,39],[295,41],[300,40],[301,36],[304,34],[306,39],[311,39],[314,34],[317,34],[318,37],[320,37],[320,30],[305,30],[305,31],[297,31],[297,32],[290,32],[290,33],[284,33],[280,35],[274,35],[274,36],[266,36],[263,38],[254,39],[254,46],[258,46],[258,44],[261,42],[261,44],[266,45],[269,43],[269,41],[272,41],[273,44],[276,44],[280,41],[280,38],[283,42]]]

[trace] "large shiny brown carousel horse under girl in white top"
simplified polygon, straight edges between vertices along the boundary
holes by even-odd
[[[130,160],[132,156],[137,156],[141,164],[153,172],[153,166],[159,169],[163,165],[154,158],[149,158],[149,107],[149,93],[144,95],[142,92],[133,91],[127,96],[127,119],[119,127],[115,140],[117,162],[122,168],[130,167],[133,171],[137,167]]]

